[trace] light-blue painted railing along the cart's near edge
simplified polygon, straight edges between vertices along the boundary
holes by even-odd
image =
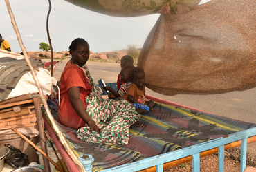
[[[255,136],[255,137],[252,137]],[[252,138],[250,138],[252,137]],[[106,169],[106,171],[111,172],[131,172],[131,171],[140,171],[143,169],[148,169],[152,166],[156,166],[156,171],[163,171],[163,164],[166,162],[172,162],[174,160],[179,160],[192,155],[192,172],[200,171],[200,153],[203,151],[208,151],[210,149],[218,148],[218,171],[224,171],[224,146],[232,142],[241,140],[241,164],[240,172],[243,172],[246,168],[246,149],[247,149],[247,140],[250,138],[250,142],[256,141],[256,127],[252,129],[246,129],[244,131],[239,131],[233,133],[225,138],[217,138],[210,140],[208,142],[203,142],[201,144],[196,144],[191,147],[186,147],[179,149],[177,151],[172,151],[169,153],[164,153],[161,155],[156,155],[151,158],[146,158],[145,160],[140,160],[138,162],[132,162],[129,164],[124,164],[121,166],[116,166],[111,169]],[[102,171],[103,172],[103,171]]]

